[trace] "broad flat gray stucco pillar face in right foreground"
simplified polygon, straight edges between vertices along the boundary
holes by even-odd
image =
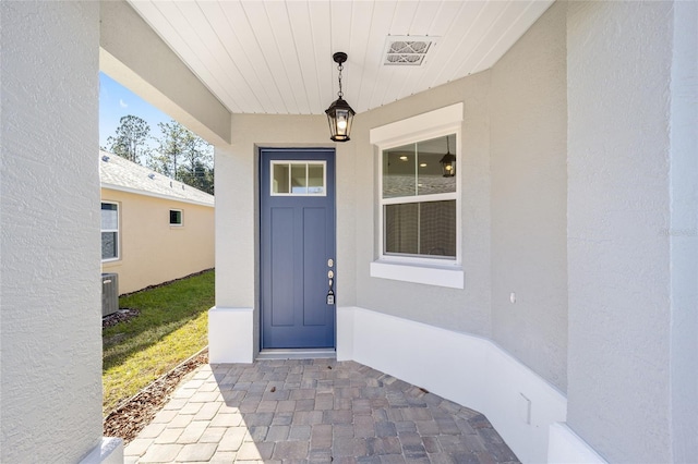
[[[568,8],[568,424],[611,462],[671,462],[673,5]]]

